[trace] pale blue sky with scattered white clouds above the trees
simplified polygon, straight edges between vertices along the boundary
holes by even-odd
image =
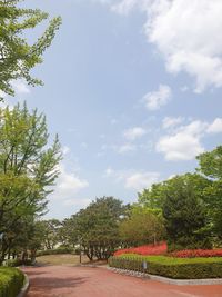
[[[59,133],[61,175],[47,218],[95,197],[137,201],[153,182],[194,171],[222,142],[221,0],[29,0],[62,26],[14,98]],[[46,23],[36,28],[38,38]],[[29,37],[29,36],[28,36]]]

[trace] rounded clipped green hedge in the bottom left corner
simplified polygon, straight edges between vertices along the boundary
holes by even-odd
[[[0,267],[0,297],[16,297],[24,283],[24,275],[17,268]]]

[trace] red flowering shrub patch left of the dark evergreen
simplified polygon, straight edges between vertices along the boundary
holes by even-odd
[[[168,246],[167,242],[161,242],[158,245],[147,245],[135,248],[125,248],[125,249],[119,249],[114,253],[114,256],[119,256],[122,254],[138,254],[138,255],[163,255],[167,254]]]

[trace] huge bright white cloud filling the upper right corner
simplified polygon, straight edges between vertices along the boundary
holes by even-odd
[[[122,0],[107,3],[111,10],[122,14],[135,8],[143,11],[148,41],[163,56],[169,72],[183,71],[195,79],[196,92],[222,86],[221,0]]]

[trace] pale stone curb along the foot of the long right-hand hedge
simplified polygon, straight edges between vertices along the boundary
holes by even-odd
[[[112,267],[107,267],[107,269],[132,277],[139,277],[143,279],[150,279],[155,281],[161,281],[169,285],[178,285],[178,286],[189,286],[189,285],[222,285],[222,278],[205,278],[205,279],[172,279],[163,276],[157,276],[157,275],[149,275],[144,273],[138,273],[133,270],[124,270],[124,269],[118,269]]]

